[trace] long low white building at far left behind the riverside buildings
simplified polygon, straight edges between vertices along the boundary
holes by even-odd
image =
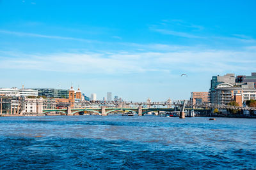
[[[38,90],[17,89],[16,87],[0,88],[0,96],[8,96],[8,97],[38,96]]]

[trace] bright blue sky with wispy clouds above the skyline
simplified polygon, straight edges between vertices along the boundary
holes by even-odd
[[[256,71],[256,1],[0,0],[0,87],[188,99]],[[186,73],[188,77],[180,74]]]

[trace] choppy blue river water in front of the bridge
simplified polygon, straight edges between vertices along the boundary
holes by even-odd
[[[256,169],[256,119],[0,117],[0,169]]]

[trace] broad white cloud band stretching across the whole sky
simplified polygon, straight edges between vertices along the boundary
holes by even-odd
[[[164,45],[163,45],[164,46]],[[182,48],[182,47],[180,47]],[[17,57],[17,56],[20,57]],[[3,69],[31,69],[92,74],[225,73],[253,71],[255,52],[250,50],[180,50],[180,52],[70,52],[26,54],[0,52]]]

